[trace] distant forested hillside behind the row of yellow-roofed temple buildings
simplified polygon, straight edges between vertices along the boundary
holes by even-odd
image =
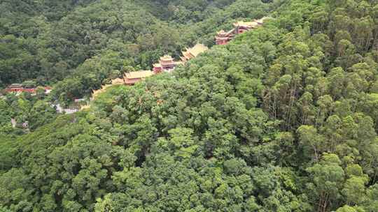
[[[121,66],[148,69],[162,54],[212,45],[221,25],[268,10],[258,0],[17,0],[0,8],[0,88],[59,82],[53,96],[62,103],[99,89]]]

